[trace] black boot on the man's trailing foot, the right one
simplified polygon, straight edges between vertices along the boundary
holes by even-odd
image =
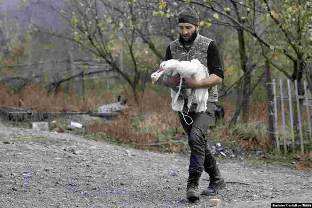
[[[209,175],[209,186],[205,188],[202,194],[206,196],[216,196],[219,190],[225,188],[226,183],[225,183],[224,178],[221,176],[221,172],[216,164],[216,160],[214,156],[206,155],[206,157],[205,157],[204,169]],[[211,164],[210,166],[207,166],[208,161],[210,161],[210,164]]]

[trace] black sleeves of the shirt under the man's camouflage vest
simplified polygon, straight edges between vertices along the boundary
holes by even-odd
[[[207,49],[207,54],[207,67],[209,74],[215,74],[218,77],[224,79],[223,64],[220,58],[219,48],[215,41],[210,42]],[[166,61],[172,59],[170,45],[167,47],[165,59]]]

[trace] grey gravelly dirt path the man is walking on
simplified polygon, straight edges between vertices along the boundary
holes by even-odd
[[[72,134],[1,126],[0,207],[209,207],[212,198],[220,199],[222,207],[251,207],[246,203],[269,207],[264,204],[312,193],[311,172],[251,167],[226,159],[219,162],[226,181],[244,184],[227,183],[218,196],[200,196],[190,203],[188,164],[184,154],[138,151]],[[203,173],[201,191],[207,179]]]

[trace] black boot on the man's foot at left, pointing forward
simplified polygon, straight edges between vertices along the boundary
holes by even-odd
[[[189,172],[189,177],[187,180],[188,187],[186,190],[186,198],[189,201],[199,200],[198,182],[201,175],[202,173],[199,172]]]

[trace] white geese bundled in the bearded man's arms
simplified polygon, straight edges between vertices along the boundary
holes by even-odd
[[[159,77],[163,74],[167,75],[176,75],[180,74],[180,85],[179,85],[179,90],[175,94],[174,99],[173,99],[173,104],[177,102],[178,97],[180,95],[181,87],[182,87],[182,79],[183,78],[190,78],[192,75],[196,74],[196,81],[199,82],[201,79],[206,78],[209,76],[207,69],[205,66],[203,66],[197,59],[193,59],[192,61],[178,61],[175,59],[171,59],[165,62],[162,62],[160,64],[159,69],[157,72],[154,72],[151,75],[152,83],[154,84],[157,82]],[[208,89],[207,88],[197,88],[195,96],[195,102],[197,103],[197,109],[196,112],[201,112],[201,111],[206,111],[207,109],[207,100],[208,100]],[[191,100],[190,105],[192,104],[193,97]],[[183,105],[184,105],[184,100],[183,100]],[[190,109],[190,106],[188,106],[188,111]],[[182,110],[181,110],[182,113]],[[182,113],[183,117],[184,114]],[[189,116],[188,116],[189,117]],[[185,118],[184,118],[185,120]],[[192,120],[192,119],[191,119]],[[186,122],[186,121],[185,121]],[[193,123],[193,120],[190,124]]]

